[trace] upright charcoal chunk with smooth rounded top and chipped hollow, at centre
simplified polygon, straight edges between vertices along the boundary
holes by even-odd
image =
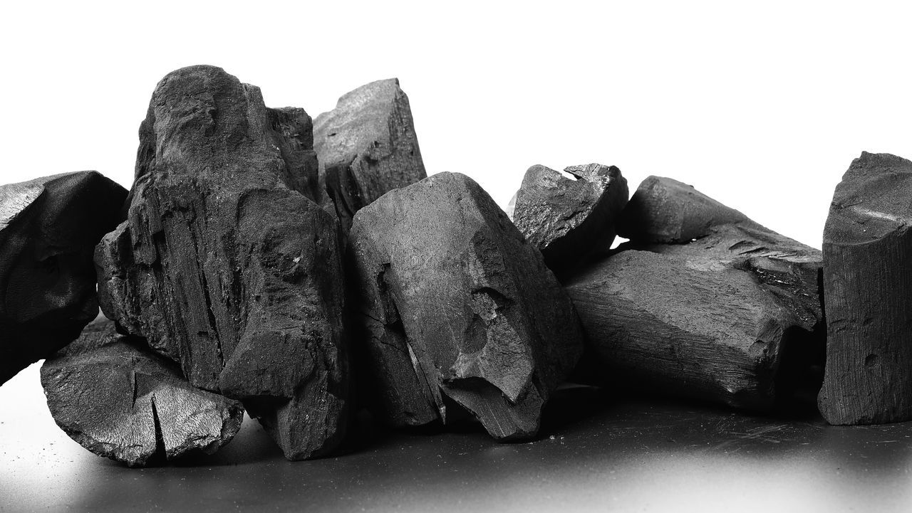
[[[452,399],[498,439],[534,436],[582,333],[541,253],[491,197],[440,173],[359,210],[349,242],[381,416],[446,422]]]

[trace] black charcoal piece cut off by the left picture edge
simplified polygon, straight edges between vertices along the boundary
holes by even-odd
[[[96,171],[0,186],[0,384],[98,315],[92,250],[126,199]]]

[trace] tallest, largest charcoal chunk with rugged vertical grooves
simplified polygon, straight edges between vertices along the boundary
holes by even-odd
[[[192,385],[244,400],[290,459],[331,451],[347,404],[340,231],[307,197],[307,127],[221,68],[172,72],[140,127],[127,221],[96,253],[102,310]]]

